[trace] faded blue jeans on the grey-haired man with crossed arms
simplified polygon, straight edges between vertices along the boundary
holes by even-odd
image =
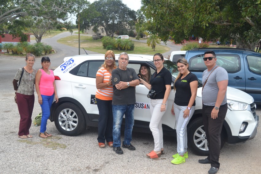
[[[112,105],[113,112],[113,147],[121,146],[121,124],[125,114],[124,145],[130,145],[132,140],[132,128],[134,125],[134,104]]]

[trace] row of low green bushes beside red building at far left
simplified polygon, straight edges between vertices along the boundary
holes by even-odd
[[[35,43],[30,44],[28,42],[22,42],[22,43],[5,43],[3,44],[3,49],[6,50],[8,54],[10,54],[10,51],[12,54],[22,54],[23,53],[32,53],[35,56],[43,56],[43,54],[51,53],[52,52],[52,46],[43,44],[43,43]]]

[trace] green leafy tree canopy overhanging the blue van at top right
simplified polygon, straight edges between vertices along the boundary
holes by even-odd
[[[261,38],[260,0],[142,0],[143,23],[163,41],[181,43],[189,36],[233,39],[237,48],[255,49]]]

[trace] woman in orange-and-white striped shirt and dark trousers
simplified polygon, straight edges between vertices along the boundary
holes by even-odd
[[[95,98],[99,109],[98,121],[98,143],[100,148],[105,147],[105,140],[109,147],[113,146],[112,138],[112,96],[113,87],[111,82],[111,73],[117,68],[114,52],[108,50],[105,53],[105,60],[96,73],[96,94]]]

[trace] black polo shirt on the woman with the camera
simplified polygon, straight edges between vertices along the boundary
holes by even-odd
[[[172,78],[170,72],[163,67],[159,73],[154,72],[151,76],[150,84],[152,85],[152,90],[156,91],[157,95],[151,99],[163,99],[166,91],[165,85],[171,85]]]

